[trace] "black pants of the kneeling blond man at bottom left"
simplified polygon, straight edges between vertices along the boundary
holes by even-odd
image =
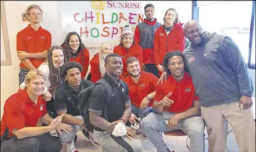
[[[18,139],[16,136],[1,141],[1,152],[55,152],[61,151],[62,144],[49,132],[43,135]]]

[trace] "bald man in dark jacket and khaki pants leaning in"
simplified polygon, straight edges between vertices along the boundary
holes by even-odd
[[[228,122],[239,151],[255,151],[252,80],[239,47],[230,37],[202,32],[190,20],[184,25],[190,46],[184,51],[209,135],[209,151],[225,151]]]

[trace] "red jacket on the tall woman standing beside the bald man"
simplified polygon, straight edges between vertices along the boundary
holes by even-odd
[[[179,50],[183,52],[185,49],[185,37],[182,26],[174,23],[174,27],[167,35],[164,26],[160,26],[154,34],[154,59],[156,65],[162,65],[163,57],[169,51]]]

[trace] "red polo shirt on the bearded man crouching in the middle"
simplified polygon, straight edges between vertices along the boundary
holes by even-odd
[[[141,71],[141,76],[139,77],[138,83],[132,80],[132,77],[123,78],[129,87],[129,97],[130,101],[136,107],[141,107],[141,101],[151,92],[156,91],[158,78],[149,72]],[[148,105],[149,107],[153,104],[153,100]]]

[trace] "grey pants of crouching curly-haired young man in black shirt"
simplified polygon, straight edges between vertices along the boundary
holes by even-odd
[[[78,119],[83,119],[81,115],[76,115],[74,116]],[[70,126],[72,126],[72,132],[70,133],[66,133],[63,130],[61,130],[62,135],[59,135],[59,141],[67,143],[67,144],[71,144],[72,141],[75,139],[76,133],[78,133],[78,130],[81,130],[82,126],[78,126],[75,124],[70,124]]]

